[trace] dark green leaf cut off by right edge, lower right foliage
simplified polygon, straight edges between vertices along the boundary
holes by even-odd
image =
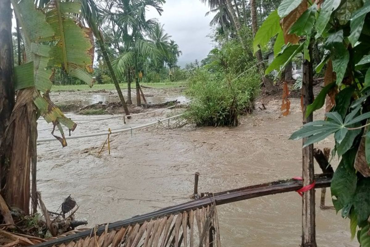
[[[357,183],[356,194],[353,198],[357,222],[366,221],[370,216],[370,178],[360,179]]]

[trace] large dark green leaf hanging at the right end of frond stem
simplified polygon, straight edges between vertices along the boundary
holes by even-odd
[[[354,157],[353,157],[354,159]],[[352,204],[353,197],[356,192],[357,176],[354,171],[348,171],[344,164],[344,160],[339,163],[339,166],[334,172],[330,190],[332,192],[333,205],[338,212],[343,207]]]

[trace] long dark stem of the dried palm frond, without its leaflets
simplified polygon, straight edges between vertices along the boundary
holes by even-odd
[[[332,174],[319,174],[315,176],[316,186],[315,188],[329,187],[332,181]],[[211,205],[216,203],[216,205],[222,205],[226,203],[232,203],[235,201],[247,200],[250,198],[256,198],[261,196],[268,196],[278,193],[286,193],[290,191],[296,191],[302,188],[302,181],[297,181],[293,179],[289,180],[279,180],[271,183],[258,184],[243,188],[237,188],[234,190],[223,191],[219,193],[214,193],[211,196],[203,197],[198,200],[189,201],[187,203],[182,203],[172,207],[162,208],[158,211],[154,211],[147,214],[142,214],[140,216],[135,216],[127,220],[121,220],[109,224],[108,231],[117,230],[121,227],[128,226],[130,224],[143,223],[144,221],[150,220],[151,218],[164,217],[172,214],[177,214],[180,212],[189,212],[196,208],[202,208],[203,206]],[[97,234],[100,235],[105,231],[105,226],[98,227]],[[76,233],[71,236],[53,239],[45,243],[40,243],[35,245],[35,247],[46,247],[58,245],[61,243],[67,243],[76,238],[83,238],[89,236],[91,230],[83,231],[81,233]]]

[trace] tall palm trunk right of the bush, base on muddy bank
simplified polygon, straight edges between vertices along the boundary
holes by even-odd
[[[250,18],[252,19],[253,36],[256,36],[258,26],[257,26],[257,9],[256,9],[255,0],[250,0]],[[262,76],[262,81],[263,81],[263,84],[266,87],[266,92],[267,93],[275,92],[276,89],[274,87],[274,84],[273,84],[272,80],[270,80],[266,76],[264,76],[266,66],[265,66],[265,63],[263,62],[262,52],[261,52],[260,49],[256,52],[256,57],[257,57],[257,61],[258,61],[259,71],[263,75]]]

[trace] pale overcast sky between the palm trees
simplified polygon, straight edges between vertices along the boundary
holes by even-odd
[[[157,18],[165,24],[164,29],[179,45],[182,56],[178,65],[184,68],[186,63],[204,59],[212,49],[212,40],[206,37],[211,33],[212,16],[204,16],[209,11],[208,5],[200,0],[166,0],[163,10],[159,16],[150,9],[147,18]]]

